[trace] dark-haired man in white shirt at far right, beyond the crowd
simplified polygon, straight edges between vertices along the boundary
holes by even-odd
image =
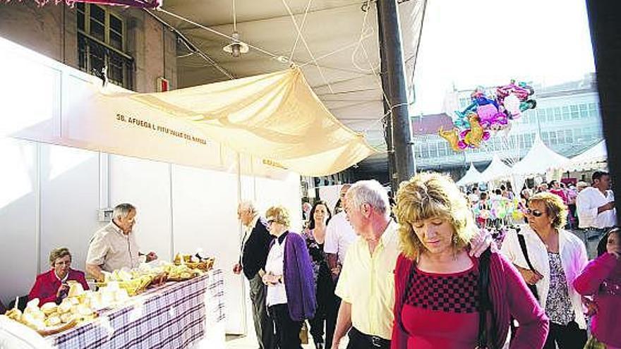
[[[576,209],[579,228],[585,229],[587,240],[599,238],[607,229],[617,224],[615,195],[610,190],[610,174],[595,171],[593,185],[578,193]]]

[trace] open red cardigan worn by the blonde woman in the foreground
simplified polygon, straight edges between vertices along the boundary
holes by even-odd
[[[395,298],[391,349],[407,348],[408,333],[401,326],[400,319],[403,310],[402,294],[412,263],[411,259],[401,254],[394,269]],[[548,336],[548,317],[526,287],[519,271],[498,253],[492,253],[490,259],[490,298],[497,322],[494,336],[496,343],[493,348],[502,348],[504,345],[511,317],[517,319],[520,325],[511,342],[511,349],[543,348],[545,338]]]

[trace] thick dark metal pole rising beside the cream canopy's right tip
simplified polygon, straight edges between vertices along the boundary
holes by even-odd
[[[387,78],[389,105],[392,117],[394,162],[397,169],[397,183],[414,175],[414,154],[412,153],[411,124],[408,111],[407,91],[403,65],[401,30],[396,0],[378,0],[378,23],[382,32]]]

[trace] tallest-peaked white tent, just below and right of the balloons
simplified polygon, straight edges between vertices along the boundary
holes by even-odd
[[[567,161],[569,159],[548,148],[541,138],[537,136],[529,152],[513,166],[512,171],[524,176],[530,176],[545,173],[549,169],[561,169],[567,164]]]

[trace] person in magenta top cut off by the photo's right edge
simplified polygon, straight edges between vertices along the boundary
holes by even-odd
[[[613,228],[600,240],[598,257],[574,280],[581,295],[593,295],[591,333],[608,349],[621,348],[621,231]]]

